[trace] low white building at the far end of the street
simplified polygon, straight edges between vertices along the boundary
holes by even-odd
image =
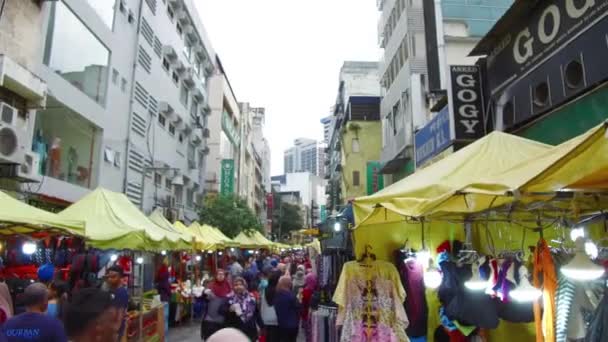
[[[323,178],[310,172],[272,177],[272,186],[281,200],[301,207],[305,227],[321,222],[320,209],[326,206],[325,183]]]

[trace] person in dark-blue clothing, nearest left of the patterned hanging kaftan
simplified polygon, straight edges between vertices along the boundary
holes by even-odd
[[[300,300],[293,294],[291,277],[282,276],[277,285],[274,308],[279,323],[279,341],[296,342],[300,324]]]

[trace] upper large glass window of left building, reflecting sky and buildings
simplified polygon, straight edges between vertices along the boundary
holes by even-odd
[[[51,6],[44,63],[104,106],[110,51],[63,2]]]

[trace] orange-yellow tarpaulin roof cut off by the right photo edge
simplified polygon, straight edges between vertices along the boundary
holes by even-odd
[[[469,193],[522,195],[560,190],[608,189],[608,139],[606,123],[557,145],[542,155],[523,161],[490,179],[468,186]]]

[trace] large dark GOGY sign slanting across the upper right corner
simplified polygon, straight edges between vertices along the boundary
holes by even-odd
[[[608,0],[539,2],[530,19],[514,22],[509,33],[490,51],[487,59],[490,93],[494,95],[566,47],[571,39],[606,16],[607,9]]]

